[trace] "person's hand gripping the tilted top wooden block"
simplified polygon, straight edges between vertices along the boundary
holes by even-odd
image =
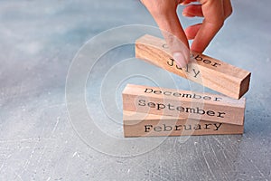
[[[193,39],[191,50],[203,52],[232,13],[230,0],[199,0],[200,4],[196,5],[191,3],[197,0],[141,0],[141,2],[153,15],[164,34],[165,41],[169,44],[173,58],[181,67],[190,60],[189,51],[184,51],[183,44],[189,48],[188,40]],[[184,32],[176,13],[177,6],[180,4],[187,5],[182,15],[204,17],[202,23],[193,24]]]

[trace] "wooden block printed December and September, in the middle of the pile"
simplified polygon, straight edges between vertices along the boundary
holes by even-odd
[[[245,98],[127,84],[123,110],[242,125]]]

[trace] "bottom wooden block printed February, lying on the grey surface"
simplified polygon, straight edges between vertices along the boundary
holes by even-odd
[[[243,134],[244,125],[123,111],[125,137]]]

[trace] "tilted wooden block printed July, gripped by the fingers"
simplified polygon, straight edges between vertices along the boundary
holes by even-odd
[[[135,42],[136,58],[151,62],[231,98],[239,99],[248,91],[248,71],[197,52],[191,52],[191,63],[181,68],[170,54],[168,46],[160,38],[146,34]]]

